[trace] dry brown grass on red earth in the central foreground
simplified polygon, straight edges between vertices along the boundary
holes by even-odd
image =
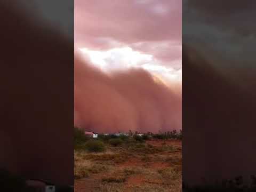
[[[75,151],[75,191],[180,192],[181,164],[177,141],[107,146],[97,154]]]

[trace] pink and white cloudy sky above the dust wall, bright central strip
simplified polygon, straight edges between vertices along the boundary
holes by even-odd
[[[181,83],[181,0],[75,0],[75,49],[104,71],[143,68]]]

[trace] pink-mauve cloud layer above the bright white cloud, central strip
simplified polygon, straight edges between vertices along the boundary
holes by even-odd
[[[129,46],[166,61],[165,65],[181,61],[181,1],[75,0],[75,46]]]

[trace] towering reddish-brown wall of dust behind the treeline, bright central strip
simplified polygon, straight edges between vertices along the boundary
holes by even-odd
[[[76,125],[99,133],[181,129],[181,85],[142,69],[103,73],[75,57]]]

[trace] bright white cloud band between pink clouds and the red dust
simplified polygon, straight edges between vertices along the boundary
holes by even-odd
[[[166,67],[161,61],[156,60],[153,55],[133,51],[131,47],[115,48],[108,51],[93,51],[87,48],[80,48],[79,50],[91,60],[93,65],[105,72],[143,68],[151,74],[168,79],[168,81],[181,82],[181,69],[177,70],[169,67],[175,64],[181,65],[181,60],[174,60],[174,63]]]

